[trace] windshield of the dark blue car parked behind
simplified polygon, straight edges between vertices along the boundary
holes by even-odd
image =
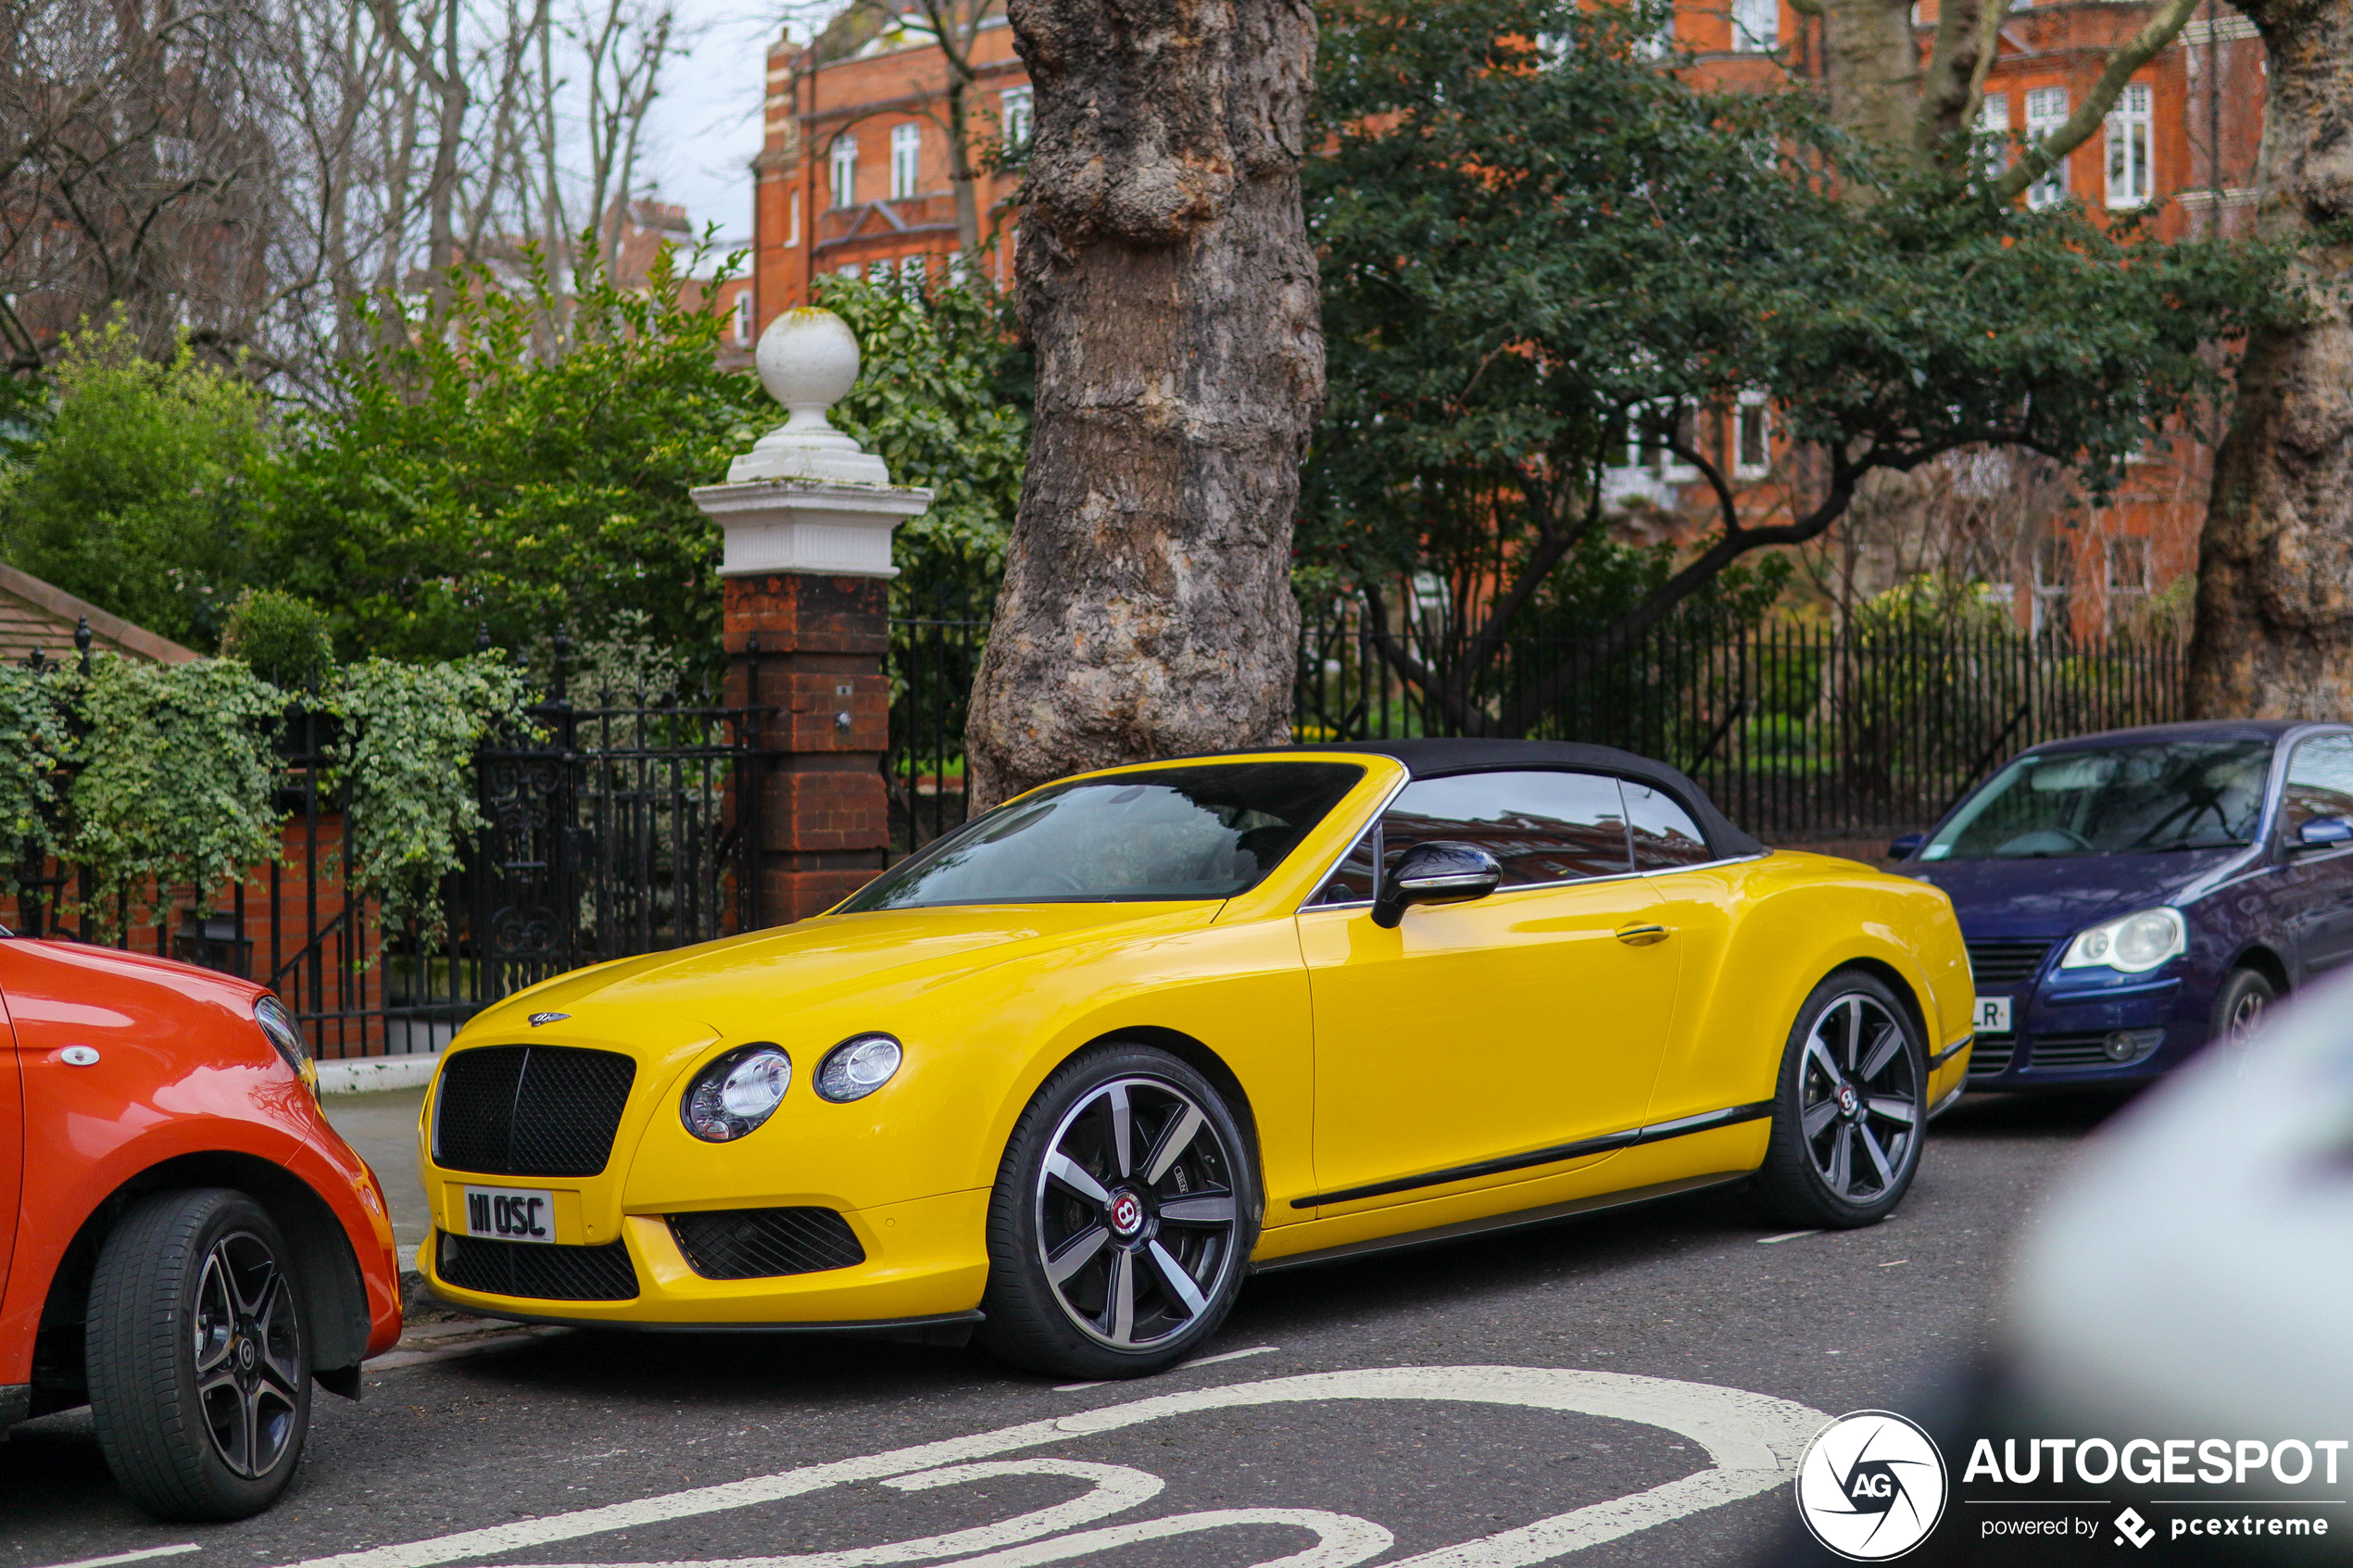
[[[2264,816],[2268,741],[2162,741],[2019,757],[1937,830],[1922,860],[2228,849]]]

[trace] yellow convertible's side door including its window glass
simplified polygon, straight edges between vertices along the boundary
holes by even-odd
[[[1428,839],[1487,849],[1504,886],[1384,931],[1372,867]],[[1607,1157],[1555,1150],[1642,1121],[1675,999],[1659,912],[1614,778],[1409,783],[1299,914],[1325,1201],[1409,1204]],[[1464,1171],[1482,1164],[1508,1171]]]

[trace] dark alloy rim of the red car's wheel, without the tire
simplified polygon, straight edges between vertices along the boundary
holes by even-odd
[[[301,1326],[268,1244],[231,1232],[195,1284],[195,1399],[231,1474],[271,1474],[299,1427]]]

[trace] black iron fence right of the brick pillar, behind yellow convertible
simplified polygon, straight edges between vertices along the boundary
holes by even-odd
[[[965,818],[962,726],[984,637],[976,621],[920,621],[892,642],[894,853]],[[1374,628],[1344,602],[1301,628],[1292,712],[1301,741],[1617,745],[1689,771],[1758,837],[1805,844],[1925,827],[2040,741],[2184,717],[2184,649],[2162,632],[1668,625],[1617,658],[1518,639],[1473,661],[1459,637]]]

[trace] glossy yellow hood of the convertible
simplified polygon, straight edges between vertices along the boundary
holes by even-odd
[[[1061,950],[1104,940],[1191,931],[1219,907],[1059,903],[826,914],[579,969],[487,1009],[466,1032],[513,1037],[529,1018],[558,1013],[567,1027],[553,1034],[565,1037],[671,1039],[694,1025],[722,1037],[769,1034],[784,1013],[814,1013],[887,990],[925,992],[1019,959],[1061,961]]]

